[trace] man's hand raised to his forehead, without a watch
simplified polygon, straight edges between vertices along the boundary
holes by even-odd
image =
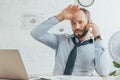
[[[67,8],[65,8],[60,14],[58,14],[56,16],[56,18],[59,20],[59,21],[62,21],[62,20],[71,20],[73,15],[75,13],[77,13],[78,11],[80,11],[80,7],[79,5],[69,5]]]

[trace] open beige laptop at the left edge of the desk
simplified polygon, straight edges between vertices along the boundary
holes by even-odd
[[[0,79],[29,79],[17,49],[0,49]]]

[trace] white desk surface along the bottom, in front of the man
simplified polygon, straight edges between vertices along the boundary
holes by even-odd
[[[33,78],[33,79],[32,79]],[[120,76],[37,76],[30,80],[120,80]]]

